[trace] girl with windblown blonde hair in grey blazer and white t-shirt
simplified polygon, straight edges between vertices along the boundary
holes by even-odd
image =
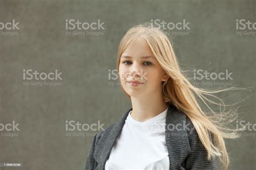
[[[233,87],[194,87],[164,32],[146,24],[121,40],[117,69],[132,108],[93,138],[85,169],[227,169],[224,138],[237,133],[221,126],[225,114],[217,116],[206,101],[217,103],[205,96]],[[206,114],[198,100],[214,114]]]

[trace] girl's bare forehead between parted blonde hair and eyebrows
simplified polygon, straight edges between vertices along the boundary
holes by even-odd
[[[137,38],[135,39],[130,46],[123,52],[123,56],[130,56],[130,57],[153,57],[153,53],[150,49],[149,44],[147,44],[144,38]],[[148,57],[147,57],[148,58]],[[154,57],[153,57],[154,58]]]

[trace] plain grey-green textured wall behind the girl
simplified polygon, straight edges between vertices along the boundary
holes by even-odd
[[[255,1],[0,1],[0,22],[19,22],[19,30],[0,30],[0,162],[13,169],[83,169],[92,137],[66,137],[66,120],[114,123],[130,107],[119,86],[111,86],[120,39],[133,25],[160,19],[190,22],[188,35],[172,36],[180,65],[232,73],[226,87],[255,86],[255,37],[237,35],[236,19],[255,21]],[[104,35],[67,36],[66,19],[104,22]],[[1,25],[0,25],[1,28]],[[180,30],[173,30],[180,31]],[[253,31],[248,30],[246,31]],[[18,35],[2,35],[6,32]],[[169,30],[171,32],[171,30]],[[23,70],[62,72],[62,80],[24,80]],[[57,86],[24,85],[58,82]],[[198,82],[202,82],[198,81]],[[211,88],[213,86],[203,85]],[[216,87],[216,86],[215,86]],[[224,87],[221,85],[220,87]],[[227,103],[251,92],[228,92]],[[241,120],[255,124],[255,98],[242,103]],[[1,127],[1,126],[0,126]],[[247,131],[255,134],[255,130]],[[6,137],[4,135],[18,135]],[[255,137],[227,140],[230,169],[255,169]],[[10,167],[0,169],[12,169]]]

